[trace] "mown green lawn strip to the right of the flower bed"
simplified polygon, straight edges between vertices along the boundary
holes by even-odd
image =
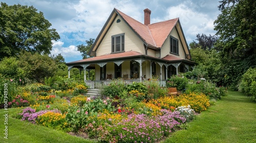
[[[256,104],[243,93],[228,91],[228,96],[199,114],[186,130],[162,142],[256,142]]]

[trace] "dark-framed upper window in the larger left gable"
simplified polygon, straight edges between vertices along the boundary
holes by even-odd
[[[112,36],[112,53],[124,52],[124,34]]]

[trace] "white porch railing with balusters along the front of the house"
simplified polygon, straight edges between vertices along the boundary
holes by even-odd
[[[133,82],[145,82],[145,80],[123,80],[125,84],[131,84]],[[85,81],[89,89],[99,88],[102,85],[109,85],[115,82],[114,80],[104,80],[104,81]],[[166,87],[166,81],[159,81],[161,87]]]

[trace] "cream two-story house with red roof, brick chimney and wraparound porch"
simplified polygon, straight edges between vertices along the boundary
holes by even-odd
[[[179,18],[150,23],[151,10],[144,10],[144,23],[114,8],[95,39],[92,58],[67,63],[68,69],[95,69],[95,82],[122,78],[142,81],[157,76],[165,81],[178,72],[188,71],[188,45]],[[70,74],[69,74],[70,76]]]

